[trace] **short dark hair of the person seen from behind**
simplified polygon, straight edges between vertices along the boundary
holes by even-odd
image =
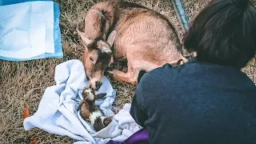
[[[212,0],[184,36],[202,62],[242,68],[256,52],[256,9],[250,0]]]

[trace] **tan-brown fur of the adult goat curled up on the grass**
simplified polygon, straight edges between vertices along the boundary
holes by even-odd
[[[94,10],[101,11],[104,15]],[[102,18],[105,18],[105,21]],[[93,79],[90,84],[94,89],[97,88],[94,83],[101,81],[103,75],[98,71],[106,70],[106,68],[91,72],[88,70],[92,67],[86,62],[89,59],[88,55],[94,53],[94,50],[102,49],[102,46],[90,47],[90,43],[98,41],[97,38],[102,38],[102,42],[110,42],[110,45],[105,47],[109,49],[105,49],[106,51],[111,50],[114,41],[113,53],[109,53],[114,59],[127,58],[128,71],[126,73],[118,70],[110,71],[119,81],[136,84],[140,70],[150,71],[166,63],[186,62],[186,58],[182,57],[178,51],[182,45],[174,26],[154,10],[131,2],[114,0],[99,2],[86,13],[85,23],[85,34],[82,35],[79,30],[78,34],[86,43],[87,49],[83,56],[86,60],[83,61],[85,61],[86,74],[94,73],[94,77],[89,76],[90,80]],[[99,28],[102,26],[104,28]],[[98,61],[111,63],[110,59],[113,58],[98,57]]]

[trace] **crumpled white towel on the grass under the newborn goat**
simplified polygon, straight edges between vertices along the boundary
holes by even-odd
[[[38,106],[38,111],[24,120],[25,130],[38,127],[52,134],[66,135],[78,140],[75,143],[106,143],[110,139],[124,141],[141,127],[130,116],[130,104],[126,104],[118,114],[111,110],[116,91],[104,77],[98,93],[106,97],[96,103],[106,116],[114,116],[105,129],[96,133],[90,122],[82,119],[77,111],[82,100],[82,89],[87,86],[86,74],[82,62],[70,60],[56,66],[55,86],[46,89]]]

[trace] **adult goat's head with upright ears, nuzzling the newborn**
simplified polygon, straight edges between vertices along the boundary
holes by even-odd
[[[86,46],[82,56],[82,63],[86,71],[86,77],[90,82],[89,86],[94,90],[98,90],[102,86],[104,71],[113,62],[111,46],[114,44],[116,31],[111,32],[107,41],[103,38],[89,39],[78,29],[77,31]]]

